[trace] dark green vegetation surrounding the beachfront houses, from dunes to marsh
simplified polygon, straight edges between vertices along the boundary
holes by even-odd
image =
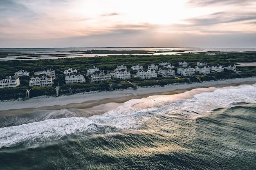
[[[159,64],[161,62],[170,62],[177,67],[180,61],[186,61],[191,66],[195,66],[197,62],[206,62],[208,65],[223,65],[229,66],[235,64],[235,62],[256,62],[256,53],[227,53],[217,55],[205,55],[205,54],[182,54],[182,55],[109,55],[104,57],[75,57],[56,60],[11,60],[0,61],[0,73],[1,77],[14,75],[15,72],[20,69],[25,69],[31,74],[29,77],[20,77],[21,85],[16,88],[0,88],[0,100],[11,99],[18,97],[25,97],[26,90],[31,88],[30,97],[40,95],[54,95],[56,94],[55,86],[59,83],[60,95],[71,94],[68,88],[72,89],[72,93],[83,93],[88,91],[112,91],[120,88],[135,88],[135,86],[164,86],[166,84],[173,83],[190,83],[190,82],[202,82],[217,79],[229,79],[229,78],[242,78],[256,76],[256,67],[237,67],[237,71],[240,73],[234,73],[225,71],[222,73],[211,73],[209,75],[197,75],[196,77],[180,77],[180,78],[165,78],[155,77],[152,79],[141,79],[138,77],[132,77],[127,79],[132,84],[122,79],[111,79],[104,83],[91,84],[89,77],[86,77],[86,82],[81,84],[65,84],[65,76],[63,71],[72,67],[76,68],[81,74],[86,74],[88,68],[91,66],[97,66],[101,70],[112,71],[117,65],[124,64],[127,66],[128,71],[131,71],[131,66],[140,64],[147,68],[150,64]],[[55,70],[57,80],[53,87],[31,87],[29,80],[34,71],[43,71],[52,68]],[[133,72],[131,72],[133,73]],[[110,86],[111,84],[111,86]]]

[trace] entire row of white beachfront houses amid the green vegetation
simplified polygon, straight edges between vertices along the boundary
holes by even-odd
[[[172,77],[176,75],[175,66],[173,66],[169,62],[162,62],[157,66],[156,64],[151,64],[148,68],[143,68],[143,66],[137,64],[136,66],[132,66],[131,69],[133,71],[137,71],[135,77],[140,77],[142,79],[150,79],[153,77],[157,77],[160,75],[162,77]],[[236,65],[233,66],[208,66],[204,62],[198,62],[195,68],[189,66],[187,62],[179,62],[179,67],[177,68],[177,74],[182,76],[191,76],[195,75],[195,73],[207,75],[211,72],[218,73],[224,71],[224,68],[230,71],[236,72]],[[52,86],[53,81],[56,79],[55,71],[53,69],[48,69],[46,71],[35,72],[36,75],[33,76],[29,81],[29,86]],[[83,83],[85,82],[84,75],[77,72],[76,69],[69,68],[63,71],[65,74],[65,83]],[[20,76],[28,76],[29,72],[25,70],[20,70],[14,73],[14,76],[5,77],[0,80],[0,88],[3,87],[16,87],[20,85]],[[130,71],[127,70],[127,67],[124,65],[117,66],[114,72],[110,73],[109,71],[100,71],[96,66],[92,66],[87,70],[87,76],[90,76],[90,81],[92,83],[104,82],[111,77],[115,77],[118,79],[127,79],[131,77]]]

